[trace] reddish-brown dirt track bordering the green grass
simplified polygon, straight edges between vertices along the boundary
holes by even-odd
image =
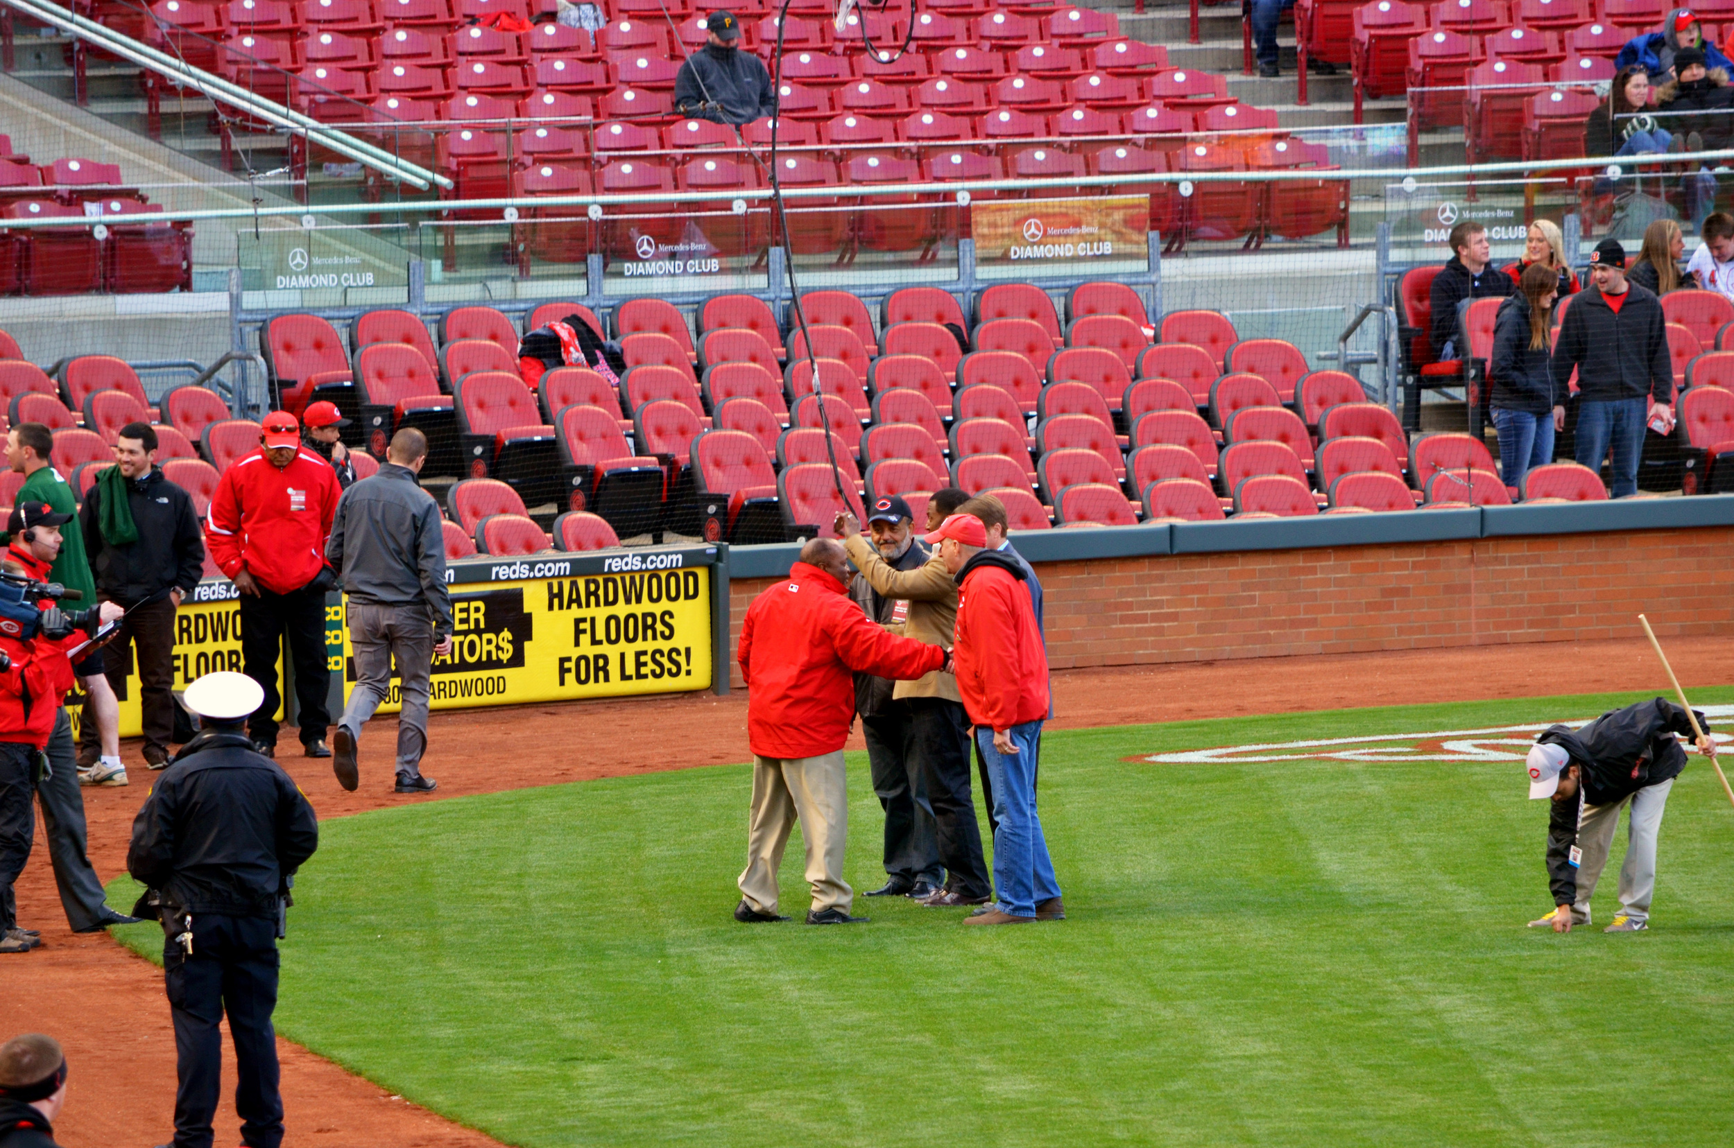
[[[1722,638],[1666,642],[1687,692],[1731,680]],[[1548,694],[1656,690],[1661,675],[1644,640],[1502,645],[1396,654],[1344,654],[1176,666],[1080,669],[1054,676],[1053,728],[1143,725],[1358,706],[1399,706]],[[362,784],[343,793],[329,763],[298,754],[284,730],[281,765],[321,819],[406,801],[428,801],[598,777],[749,761],[746,694],[709,694],[435,713],[425,770],[428,798],[390,791],[395,721],[376,720],[362,739]],[[1576,716],[1576,714],[1569,714]],[[862,749],[858,730],[850,740]],[[134,784],[85,789],[90,858],[104,881],[125,869],[132,817],[149,773],[127,746]],[[742,806],[742,824],[744,824]],[[0,957],[0,1039],[49,1032],[66,1046],[71,1087],[57,1139],[75,1148],[130,1148],[168,1141],[173,1129],[175,1042],[161,971],[108,935],[66,928],[43,829],[17,884],[19,921],[43,947]],[[116,905],[125,910],[127,905]],[[718,912],[725,912],[721,905]],[[413,971],[381,968],[401,992],[420,992]],[[319,1148],[479,1148],[491,1138],[453,1124],[279,1039],[290,1141]],[[225,1060],[231,1051],[225,1042]],[[225,1075],[225,1091],[232,1075]],[[236,1127],[225,1094],[218,1143]]]

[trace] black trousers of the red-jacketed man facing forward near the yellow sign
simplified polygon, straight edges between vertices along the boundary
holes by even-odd
[[[283,638],[290,640],[295,664],[295,701],[300,702],[302,744],[324,740],[331,725],[326,695],[331,692],[331,668],[324,643],[324,591],[302,588],[293,593],[258,597],[241,595],[241,666],[243,673],[265,690],[265,701],[246,723],[255,742],[277,744],[277,656]]]

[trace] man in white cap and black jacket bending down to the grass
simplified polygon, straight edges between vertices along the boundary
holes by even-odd
[[[1710,740],[1708,723],[1701,713],[1694,711],[1694,716],[1698,728],[1705,730],[1698,749],[1713,756],[1715,742]],[[1569,933],[1573,924],[1590,923],[1590,895],[1607,864],[1620,810],[1626,805],[1632,806],[1626,815],[1630,843],[1620,867],[1620,912],[1604,931],[1642,933],[1649,928],[1649,902],[1656,891],[1656,838],[1668,808],[1668,791],[1685,768],[1685,751],[1675,734],[1691,732],[1685,711],[1658,697],[1604,713],[1576,732],[1555,725],[1536,737],[1524,763],[1529,772],[1529,798],[1552,798],[1578,810],[1576,839],[1568,855],[1568,865],[1578,871],[1576,879],[1566,888],[1566,874],[1550,874],[1555,877],[1554,900],[1561,907],[1550,921],[1555,933]],[[1571,903],[1569,914],[1564,912],[1566,903]]]

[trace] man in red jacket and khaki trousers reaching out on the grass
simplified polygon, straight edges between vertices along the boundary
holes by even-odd
[[[777,867],[798,817],[813,886],[806,923],[867,919],[850,916],[855,890],[843,879],[850,831],[843,742],[855,723],[855,675],[914,680],[943,669],[950,656],[870,623],[848,584],[843,546],[815,538],[789,579],[753,600],[740,626],[753,819],[735,921],[787,921],[777,916]]]

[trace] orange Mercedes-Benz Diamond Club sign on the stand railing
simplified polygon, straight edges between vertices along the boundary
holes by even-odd
[[[969,227],[983,267],[1144,258],[1150,196],[985,199]]]

